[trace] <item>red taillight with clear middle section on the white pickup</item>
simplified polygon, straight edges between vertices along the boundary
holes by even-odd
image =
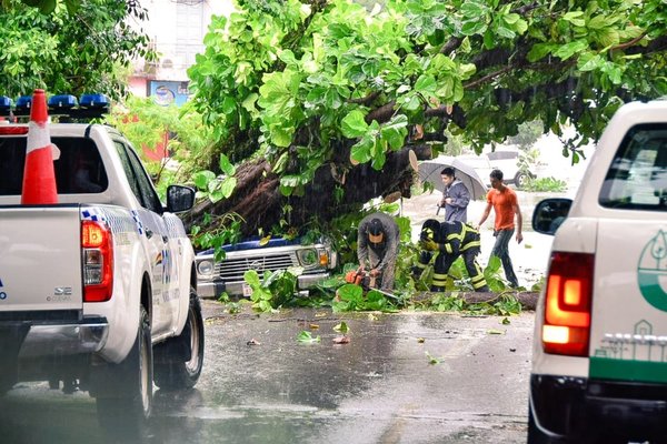
[[[113,242],[107,225],[93,221],[81,223],[83,261],[83,302],[104,302],[113,289]]]

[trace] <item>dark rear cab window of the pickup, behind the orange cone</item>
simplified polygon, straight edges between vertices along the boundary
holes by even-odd
[[[20,195],[26,162],[26,138],[0,138],[0,195]],[[82,138],[51,138],[60,150],[53,161],[59,194],[101,193],[109,186],[94,142]]]

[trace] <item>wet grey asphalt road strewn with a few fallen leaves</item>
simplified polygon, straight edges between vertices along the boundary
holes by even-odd
[[[434,313],[230,315],[212,301],[203,309],[201,379],[191,391],[156,392],[142,442],[526,442],[532,312],[502,324]],[[350,342],[335,344],[341,321]],[[303,330],[320,342],[299,343]],[[87,393],[20,384],[0,412],[0,443],[104,441]]]

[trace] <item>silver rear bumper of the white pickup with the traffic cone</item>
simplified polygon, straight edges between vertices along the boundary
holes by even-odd
[[[100,351],[107,343],[109,323],[103,317],[69,324],[3,323],[0,334],[6,341],[13,337],[20,342],[22,337],[16,344],[19,359],[64,356]]]

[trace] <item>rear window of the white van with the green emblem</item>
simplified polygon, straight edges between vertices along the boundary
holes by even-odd
[[[624,138],[600,191],[606,208],[667,210],[667,123],[633,127]]]

